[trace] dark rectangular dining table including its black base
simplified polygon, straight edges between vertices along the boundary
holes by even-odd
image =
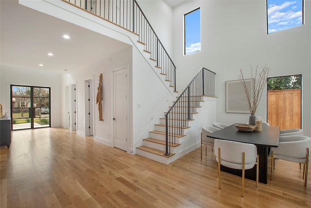
[[[259,182],[267,184],[268,151],[270,147],[278,146],[279,132],[280,128],[278,126],[262,126],[262,131],[242,132],[236,128],[235,124],[232,124],[209,134],[208,137],[256,145],[259,155]],[[242,176],[242,170],[231,169],[223,165],[221,165],[221,170]],[[245,170],[245,178],[256,181],[256,172],[256,166],[252,169]]]

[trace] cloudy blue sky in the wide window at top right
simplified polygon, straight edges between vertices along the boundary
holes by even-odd
[[[268,34],[302,25],[302,0],[267,0]]]

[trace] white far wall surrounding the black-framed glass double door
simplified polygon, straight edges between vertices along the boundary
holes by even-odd
[[[24,70],[1,65],[0,102],[3,112],[10,115],[10,85],[26,85],[37,87],[51,87],[51,126],[62,126],[61,119],[61,74],[39,70]]]

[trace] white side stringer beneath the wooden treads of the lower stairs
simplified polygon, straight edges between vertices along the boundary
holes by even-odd
[[[171,152],[174,153],[173,156],[163,157],[140,150],[137,150],[137,153],[152,160],[164,164],[169,164],[189,153],[190,151],[193,151],[196,148],[200,147],[202,126],[212,125],[212,123],[216,120],[216,102],[216,97],[204,96],[204,102],[201,102],[201,108],[198,108],[198,113],[193,114],[193,120],[189,122],[190,128],[184,130],[184,133],[186,135],[178,138],[178,142],[180,143],[180,145],[174,148],[171,147]]]

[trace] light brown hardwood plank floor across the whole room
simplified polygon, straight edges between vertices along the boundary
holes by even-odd
[[[304,187],[297,163],[277,161],[274,180],[259,188],[246,179],[244,197],[238,176],[221,172],[218,189],[211,148],[202,160],[198,148],[164,165],[45,128],[13,131],[0,156],[1,208],[311,207],[311,183]]]

